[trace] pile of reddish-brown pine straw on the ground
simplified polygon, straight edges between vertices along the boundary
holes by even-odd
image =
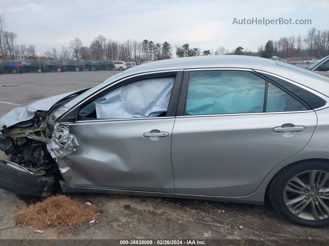
[[[97,219],[95,205],[86,205],[65,195],[50,196],[31,204],[15,215],[17,224],[32,225],[36,229],[50,226],[76,226]]]

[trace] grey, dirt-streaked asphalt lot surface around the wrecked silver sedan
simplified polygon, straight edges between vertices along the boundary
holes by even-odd
[[[116,73],[83,71],[1,74],[0,116],[19,104],[91,87]],[[1,152],[0,159],[4,158],[6,156]],[[71,197],[100,207],[103,212],[99,223],[65,231],[49,228],[43,234],[36,234],[30,226],[14,227],[16,209],[29,204],[30,198],[0,190],[0,238],[251,239],[269,245],[277,244],[271,240],[329,239],[328,228],[293,225],[267,205],[103,194],[72,194]],[[239,226],[243,226],[243,229]]]

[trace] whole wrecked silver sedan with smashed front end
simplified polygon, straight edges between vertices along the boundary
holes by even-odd
[[[0,188],[263,204],[329,225],[329,79],[251,56],[147,63],[0,118]]]

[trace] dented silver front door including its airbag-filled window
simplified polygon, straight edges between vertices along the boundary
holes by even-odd
[[[167,112],[168,104],[177,105],[169,103],[174,83],[173,73],[134,79],[82,106],[83,117],[68,124],[79,147],[60,160],[64,180],[80,187],[174,192],[175,118]]]

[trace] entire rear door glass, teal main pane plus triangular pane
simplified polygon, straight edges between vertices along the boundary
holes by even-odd
[[[304,102],[251,72],[190,72],[185,115],[304,110]]]

